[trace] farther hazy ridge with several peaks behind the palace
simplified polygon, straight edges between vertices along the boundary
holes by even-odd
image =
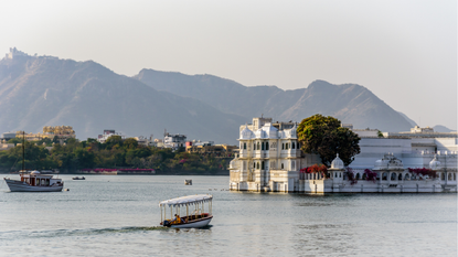
[[[355,84],[332,85],[315,81],[307,88],[283,90],[276,86],[246,87],[213,75],[184,75],[142,69],[135,78],[161,92],[192,97],[223,113],[274,120],[301,121],[315,114],[333,116],[354,128],[409,131],[406,118],[368,88]]]

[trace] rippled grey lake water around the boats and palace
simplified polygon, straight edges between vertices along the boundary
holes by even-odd
[[[0,255],[457,256],[452,193],[323,196],[221,191],[228,176],[61,178],[70,191],[10,193],[0,182]],[[211,227],[158,225],[159,201],[202,193],[214,197]]]

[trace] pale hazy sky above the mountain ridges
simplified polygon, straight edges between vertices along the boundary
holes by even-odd
[[[0,53],[11,46],[128,76],[153,68],[284,89],[355,83],[422,127],[457,129],[455,0],[6,0]]]

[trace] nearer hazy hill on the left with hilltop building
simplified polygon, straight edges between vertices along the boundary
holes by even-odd
[[[191,140],[236,143],[237,128],[246,121],[92,61],[28,55],[0,61],[0,132],[67,125],[79,139],[95,138],[104,129],[161,138],[167,128]]]

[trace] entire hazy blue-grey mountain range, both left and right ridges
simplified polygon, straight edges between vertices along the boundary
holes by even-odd
[[[354,128],[407,131],[411,124],[369,89],[312,82],[307,88],[246,87],[212,75],[142,69],[118,75],[92,61],[17,54],[0,61],[0,132],[73,126],[77,138],[104,129],[161,138],[163,129],[188,139],[235,143],[238,126],[264,115],[300,121],[331,115]]]

